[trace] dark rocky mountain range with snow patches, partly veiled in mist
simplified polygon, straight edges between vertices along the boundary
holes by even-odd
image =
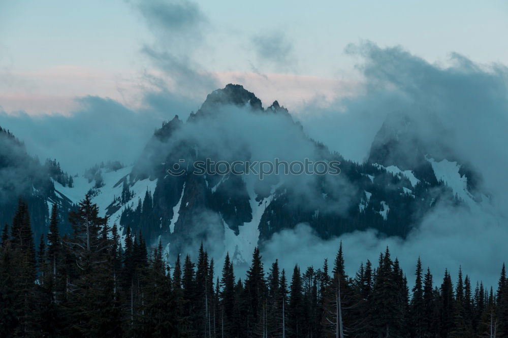
[[[134,164],[112,159],[75,176],[56,160],[40,163],[22,141],[0,129],[0,222],[11,222],[23,198],[36,236],[47,233],[54,204],[60,230],[70,232],[67,215],[88,193],[123,235],[130,227],[149,246],[162,241],[172,257],[205,242],[215,254],[229,252],[242,264],[274,233],[300,223],[322,239],[368,228],[404,238],[440,203],[488,208],[481,175],[445,144],[428,142],[416,124],[403,113],[390,114],[368,159],[357,163],[308,138],[305,126],[277,101],[265,109],[255,94],[228,84],[210,93],[186,121],[175,115],[163,123]],[[447,132],[437,119],[426,128]],[[168,174],[174,163],[275,157],[340,161],[340,175],[259,180],[231,173]]]

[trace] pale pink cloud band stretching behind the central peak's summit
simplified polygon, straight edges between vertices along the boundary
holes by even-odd
[[[151,74],[171,84],[170,78],[157,71]],[[158,74],[157,74],[158,73]],[[300,107],[319,98],[323,106],[341,96],[353,95],[358,82],[294,74],[259,74],[254,72],[212,73],[221,84],[242,84],[261,98],[265,106],[278,100],[280,105],[298,112]],[[12,72],[16,79],[4,84],[0,107],[8,113],[25,111],[30,115],[68,114],[76,108],[75,98],[87,95],[109,97],[131,108],[141,105],[143,91],[150,87],[143,75],[134,71],[91,69],[60,65],[31,72]],[[146,81],[145,81],[146,82]],[[171,85],[170,85],[171,87]],[[169,91],[178,88],[169,88]],[[207,93],[178,93],[204,100]]]

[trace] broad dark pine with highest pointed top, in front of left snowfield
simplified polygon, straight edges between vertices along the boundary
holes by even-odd
[[[108,231],[107,218],[99,216],[99,208],[87,194],[69,220],[74,232],[66,244],[73,253],[77,274],[67,285],[66,308],[73,322],[67,333],[118,336],[120,308],[114,293],[110,243],[103,235]]]

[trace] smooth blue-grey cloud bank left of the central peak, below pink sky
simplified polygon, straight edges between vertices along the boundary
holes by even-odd
[[[172,106],[174,113],[185,114],[191,108],[172,100],[153,106]],[[30,116],[0,111],[0,125],[23,140],[30,154],[40,160],[56,158],[63,170],[82,174],[101,161],[134,162],[156,126],[165,119],[156,109],[133,111],[120,103],[97,96],[76,99],[79,107],[71,114]]]

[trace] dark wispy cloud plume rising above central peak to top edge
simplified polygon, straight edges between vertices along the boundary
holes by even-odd
[[[152,76],[157,76],[164,88],[196,98],[218,87],[215,76],[198,61],[210,22],[196,3],[150,0],[134,1],[132,5],[153,33],[153,42],[145,43],[141,52],[163,73]],[[159,89],[164,94],[163,88]]]

